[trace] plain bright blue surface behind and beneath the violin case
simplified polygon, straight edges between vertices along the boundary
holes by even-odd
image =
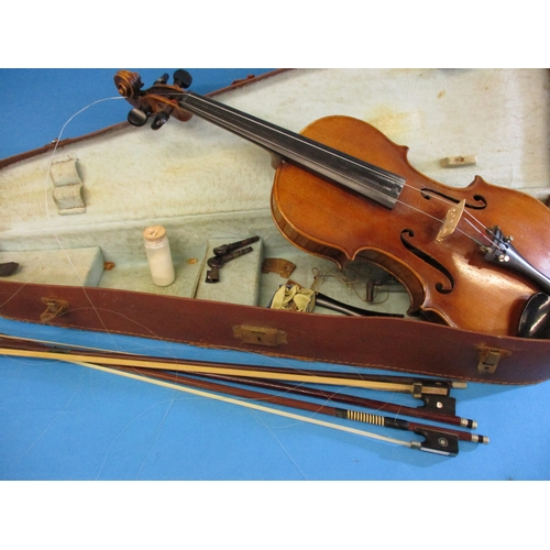
[[[207,92],[267,69],[189,70],[195,78],[193,89]],[[147,85],[173,69],[138,72]],[[51,142],[79,109],[116,97],[114,73],[1,69],[0,97],[9,116],[0,125],[0,158]],[[63,138],[124,121],[127,113],[123,101],[98,103],[72,121]],[[166,356],[282,363],[3,319],[0,332]],[[396,334],[392,345],[398,344]],[[81,366],[0,358],[0,479],[550,479],[550,383],[527,387],[470,384],[453,395],[458,414],[477,420],[479,432],[488,436],[491,443],[461,442],[458,457],[444,458]],[[370,397],[394,400],[395,396]],[[330,417],[321,419],[332,421]],[[408,432],[354,426],[397,439],[415,439]]]

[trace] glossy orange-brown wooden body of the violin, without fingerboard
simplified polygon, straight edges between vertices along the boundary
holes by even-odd
[[[384,267],[407,288],[409,315],[495,336],[517,333],[537,285],[488,263],[479,243],[464,233],[477,240],[486,235],[468,221],[461,222],[462,231],[436,239],[450,206],[465,199],[464,220],[475,217],[479,227],[501,227],[525,258],[550,273],[550,209],[479,176],[465,188],[439,184],[409,164],[407,147],[361,120],[327,117],[301,134],[403,176],[406,185],[388,209],[283,162],[275,175],[272,211],[287,240],[340,266],[364,257]]]

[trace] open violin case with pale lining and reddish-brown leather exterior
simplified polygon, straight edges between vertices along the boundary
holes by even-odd
[[[410,164],[437,182],[465,187],[480,174],[546,202],[549,85],[530,69],[292,69],[213,96],[296,132],[327,114],[354,117],[407,145]],[[130,107],[121,101],[121,118]],[[463,381],[550,378],[549,340],[419,320],[383,270],[364,260],[339,270],[289,243],[273,222],[273,178],[266,151],[198,117],[158,131],[123,122],[0,161],[0,263],[19,264],[0,277],[0,315]],[[152,226],[169,240],[169,286],[151,279],[142,234]],[[250,237],[252,252],[207,283],[213,248]],[[314,300],[271,307],[282,285],[405,316],[350,316]],[[471,315],[484,312],[473,302]]]

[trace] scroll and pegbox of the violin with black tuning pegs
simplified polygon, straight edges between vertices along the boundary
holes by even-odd
[[[169,85],[168,75],[164,74],[154,81],[153,86],[142,90],[143,82],[138,73],[119,70],[114,75],[114,85],[119,94],[133,106],[128,113],[128,122],[134,127],[144,125],[152,114],[155,114],[151,128],[158,130],[174,117],[180,122],[191,118],[191,113],[179,106],[178,100],[185,89],[191,85],[193,78],[187,70],[178,69],[174,73],[174,84]]]

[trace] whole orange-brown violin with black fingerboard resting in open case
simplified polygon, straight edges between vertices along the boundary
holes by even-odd
[[[271,208],[297,248],[340,267],[362,257],[407,289],[408,314],[495,336],[550,338],[550,209],[476,176],[449,187],[416,170],[408,147],[371,124],[329,116],[300,133],[187,88],[163,75],[148,89],[136,73],[114,76],[132,106],[128,120],[158,130],[195,114],[278,160]],[[513,244],[514,243],[514,244]]]

